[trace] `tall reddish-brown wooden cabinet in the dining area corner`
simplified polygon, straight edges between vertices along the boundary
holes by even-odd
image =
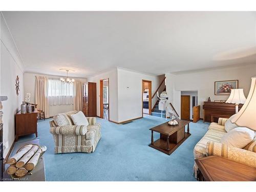
[[[83,83],[82,111],[86,117],[97,116],[96,82]]]

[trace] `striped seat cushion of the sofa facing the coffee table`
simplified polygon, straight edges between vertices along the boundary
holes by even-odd
[[[207,154],[207,143],[209,141],[215,141],[215,142],[220,142],[221,138],[225,135],[226,133],[222,131],[216,131],[216,130],[208,130],[206,134],[203,136],[203,138],[196,144],[194,148],[194,157],[200,158],[204,157]]]

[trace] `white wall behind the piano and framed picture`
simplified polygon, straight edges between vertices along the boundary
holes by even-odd
[[[200,105],[200,118],[203,118],[203,102],[210,97],[211,101],[227,99],[228,95],[215,95],[215,81],[221,80],[239,80],[239,88],[244,89],[247,97],[251,77],[256,76],[256,65],[236,66],[215,70],[204,70],[184,74],[166,73],[166,91],[169,97],[174,97],[174,92],[179,91],[198,91],[198,104]],[[174,101],[177,111],[180,114],[180,100],[178,94]]]

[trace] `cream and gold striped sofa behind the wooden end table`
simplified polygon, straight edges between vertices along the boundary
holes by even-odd
[[[226,118],[219,118],[218,123],[212,122],[204,137],[194,148],[194,158],[218,155],[252,167],[256,167],[256,136],[244,148],[237,148],[220,143],[225,131]],[[197,178],[198,166],[194,165],[194,175]]]

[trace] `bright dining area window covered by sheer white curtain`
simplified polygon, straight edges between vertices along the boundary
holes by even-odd
[[[73,104],[74,85],[59,79],[48,79],[48,100],[50,105]]]

